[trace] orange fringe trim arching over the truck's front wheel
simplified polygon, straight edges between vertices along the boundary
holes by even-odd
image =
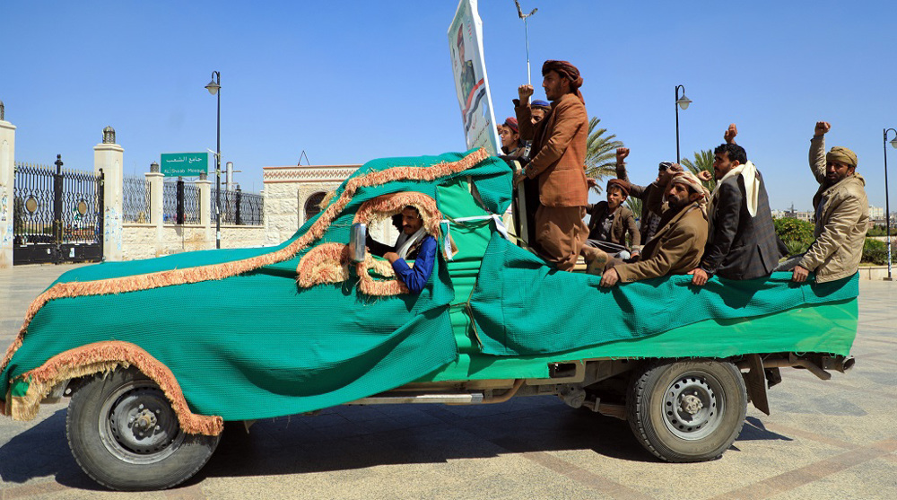
[[[30,378],[28,391],[22,397],[12,398],[6,405],[15,420],[30,420],[38,414],[40,400],[44,399],[57,383],[93,373],[108,373],[118,366],[134,365],[144,375],[159,384],[171,408],[178,415],[180,428],[187,434],[218,435],[224,429],[222,417],[196,415],[187,406],[184,393],[174,374],[159,360],[130,342],[109,340],[76,347],[48,359],[47,363],[22,373],[20,378]]]

